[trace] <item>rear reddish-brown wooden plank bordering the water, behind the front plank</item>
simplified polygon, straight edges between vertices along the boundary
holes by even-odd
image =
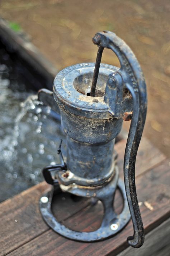
[[[119,154],[118,165],[121,170],[121,176],[123,175],[125,145],[125,140],[119,141],[115,145],[115,149]],[[136,176],[158,165],[164,159],[165,156],[143,138],[137,156]],[[0,204],[1,234],[3,234],[0,241],[0,255],[6,255],[48,230],[47,225],[42,220],[38,205],[39,197],[47,188],[47,184],[41,183]],[[58,205],[61,205],[62,197],[58,200],[60,201]],[[65,200],[65,204],[67,203],[67,200]],[[60,211],[57,212],[57,216],[59,216],[60,220],[66,219],[86,206],[86,201],[84,203],[80,201],[72,203],[69,211],[58,207]]]

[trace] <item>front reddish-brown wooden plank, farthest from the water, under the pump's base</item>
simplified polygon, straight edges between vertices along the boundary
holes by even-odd
[[[140,207],[146,233],[170,217],[169,169],[169,161],[165,161],[165,163],[137,178],[136,184],[139,200],[141,202],[147,201],[154,207],[153,211],[144,204]],[[119,205],[119,200],[117,200],[117,205]],[[77,221],[84,220],[81,223],[81,229],[87,230],[88,227],[90,231],[91,227],[93,229],[94,223],[98,226],[98,218],[101,212],[99,211],[98,214],[96,212],[94,214],[93,207],[91,209],[87,207],[86,211],[78,212],[73,217],[71,216],[67,219],[67,224],[69,223],[70,227],[75,228]],[[130,222],[121,233],[112,238],[101,242],[83,243],[63,238],[50,229],[36,239],[11,252],[9,256],[117,255],[117,253],[127,247],[126,239],[132,234],[133,228]],[[113,251],[114,254],[112,254]]]

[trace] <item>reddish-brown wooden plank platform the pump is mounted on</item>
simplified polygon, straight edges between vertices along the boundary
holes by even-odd
[[[121,176],[125,145],[126,141],[122,140],[115,146]],[[136,186],[146,233],[170,216],[168,171],[169,161],[143,138],[137,156]],[[74,242],[53,232],[42,220],[38,205],[39,197],[47,188],[43,182],[0,204],[0,255],[112,255],[113,251],[117,255],[127,247],[126,238],[133,234],[131,222],[117,236],[95,243]],[[101,204],[91,206],[85,199],[74,202],[65,193],[56,200],[53,210],[70,228],[92,231],[100,225]],[[143,204],[145,201],[153,211]],[[118,211],[121,202],[117,194],[115,206]]]

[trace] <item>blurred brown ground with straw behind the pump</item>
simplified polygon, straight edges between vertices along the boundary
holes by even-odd
[[[1,0],[0,16],[18,23],[58,70],[94,62],[97,48],[91,38],[96,32],[110,30],[121,37],[146,78],[144,134],[170,156],[169,0]],[[109,50],[104,51],[102,62],[119,66]]]

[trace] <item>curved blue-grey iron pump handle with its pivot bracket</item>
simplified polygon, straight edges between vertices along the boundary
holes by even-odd
[[[145,79],[132,50],[114,33],[110,31],[96,33],[93,37],[93,43],[99,46],[98,54],[100,52],[102,54],[104,48],[111,49],[117,55],[121,64],[121,68],[109,76],[104,96],[104,101],[108,104],[109,111],[115,118],[122,118],[123,111],[128,108],[129,102],[123,100],[123,88],[126,87],[132,95],[133,114],[124,156],[124,183],[134,229],[133,236],[128,237],[127,240],[129,245],[138,248],[144,242],[144,230],[136,194],[135,162],[146,119]],[[98,65],[101,61],[101,54],[96,59]]]

